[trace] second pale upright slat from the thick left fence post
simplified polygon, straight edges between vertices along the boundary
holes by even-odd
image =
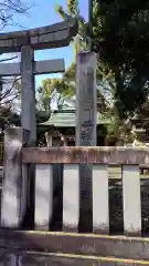
[[[79,176],[77,165],[64,165],[63,231],[77,232],[79,219]]]

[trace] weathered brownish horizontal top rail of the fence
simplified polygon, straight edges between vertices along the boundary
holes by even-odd
[[[149,164],[149,147],[24,147],[22,163]]]

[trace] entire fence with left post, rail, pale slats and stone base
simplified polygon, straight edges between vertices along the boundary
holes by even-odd
[[[149,238],[140,237],[139,171],[140,164],[149,164],[149,149],[29,147],[29,139],[30,133],[22,129],[8,129],[4,133],[0,262],[8,262],[9,257],[11,266],[149,265]],[[58,174],[53,175],[55,164],[62,165],[63,176],[60,180]],[[107,170],[115,164],[121,167],[123,236],[109,235]],[[92,171],[89,182],[82,176],[81,168]],[[29,187],[29,180],[34,178],[35,204],[29,208],[29,191],[34,194],[33,186],[32,190]],[[53,216],[60,219],[60,208],[56,215],[53,208],[56,204],[55,187],[63,191],[58,197],[62,208],[58,232],[52,226]],[[92,193],[87,194],[87,190]],[[84,208],[83,221],[81,209],[83,212]],[[26,213],[34,216],[33,225]],[[91,234],[85,228],[87,217],[92,217]],[[28,228],[24,219],[29,222]],[[84,234],[79,233],[82,223]]]

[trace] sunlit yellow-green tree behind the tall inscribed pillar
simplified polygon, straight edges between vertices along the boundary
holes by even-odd
[[[85,19],[79,13],[78,1],[70,0],[67,1],[66,11],[57,4],[55,7],[56,12],[61,16],[63,20],[67,20],[70,18],[77,18],[78,20],[78,33],[72,40],[74,44],[75,58],[76,53],[79,50],[86,50],[88,45],[88,24]],[[49,110],[49,100],[53,92],[53,89],[56,89],[57,93],[60,93],[60,104],[58,109],[61,109],[64,104],[64,99],[71,99],[76,93],[75,88],[75,72],[76,72],[76,63],[74,62],[70,65],[66,72],[63,74],[62,79],[46,79],[43,81],[41,88],[39,88],[38,92],[40,95],[40,101],[42,103],[42,108],[44,110]],[[110,93],[109,86],[114,86],[114,74],[109,70],[108,64],[98,63],[97,68],[97,109],[100,112],[106,112],[108,110],[108,101],[106,101],[104,94]],[[102,90],[103,89],[103,90]]]

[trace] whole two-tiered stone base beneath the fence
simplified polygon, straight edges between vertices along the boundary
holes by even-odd
[[[58,265],[60,257],[62,265],[149,265],[148,250],[149,238],[142,237],[0,231],[0,263],[13,266]]]

